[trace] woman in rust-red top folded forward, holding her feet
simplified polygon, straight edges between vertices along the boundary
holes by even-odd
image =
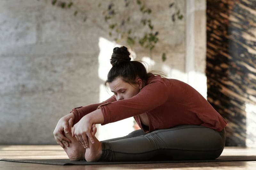
[[[129,55],[124,46],[113,49],[112,68],[105,82],[114,93],[112,97],[102,103],[76,107],[58,122],[53,134],[69,159],[218,158],[224,148],[227,124],[221,115],[190,85],[147,73],[144,65],[130,61]],[[132,116],[141,129],[104,141],[95,137],[95,124],[105,125]]]

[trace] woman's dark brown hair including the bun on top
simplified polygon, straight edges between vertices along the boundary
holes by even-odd
[[[104,83],[105,86],[117,77],[131,84],[136,84],[137,77],[142,79],[144,85],[148,80],[149,73],[147,73],[145,66],[139,61],[131,61],[130,52],[124,46],[113,49],[110,63],[112,68],[108,72],[108,79]]]

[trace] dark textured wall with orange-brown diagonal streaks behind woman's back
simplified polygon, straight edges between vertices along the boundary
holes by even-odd
[[[256,146],[256,3],[207,1],[207,99],[228,121],[227,146]]]

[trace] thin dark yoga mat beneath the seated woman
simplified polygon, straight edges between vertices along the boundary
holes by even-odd
[[[100,165],[100,164],[149,164],[149,163],[184,163],[184,162],[220,162],[220,161],[256,161],[256,156],[220,156],[218,159],[205,160],[151,160],[151,161],[125,161],[125,162],[86,162],[71,161],[69,159],[0,159],[1,161],[50,164],[50,165]]]

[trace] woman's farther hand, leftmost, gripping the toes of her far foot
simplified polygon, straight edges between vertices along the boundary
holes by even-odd
[[[53,131],[53,135],[57,144],[59,144],[62,148],[64,148],[65,145],[69,147],[69,143],[71,143],[71,140],[69,140],[63,134],[69,133],[69,129],[71,130],[73,122],[74,122],[74,118],[64,116],[60,118],[59,122],[57,123]]]

